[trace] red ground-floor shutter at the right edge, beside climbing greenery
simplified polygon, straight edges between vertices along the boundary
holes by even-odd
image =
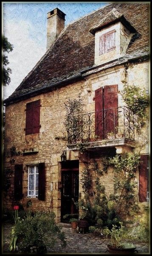
[[[139,201],[145,202],[147,196],[147,167],[148,155],[141,155],[141,162],[139,166]]]

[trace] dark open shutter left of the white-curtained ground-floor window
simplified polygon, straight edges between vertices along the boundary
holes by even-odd
[[[14,199],[20,200],[23,198],[23,164],[14,166]]]

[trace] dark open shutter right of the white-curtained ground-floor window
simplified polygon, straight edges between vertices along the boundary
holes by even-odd
[[[45,163],[39,163],[39,191],[38,199],[45,200]]]

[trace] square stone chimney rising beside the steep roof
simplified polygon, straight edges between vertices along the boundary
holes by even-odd
[[[65,13],[58,8],[48,12],[47,50],[65,28]]]

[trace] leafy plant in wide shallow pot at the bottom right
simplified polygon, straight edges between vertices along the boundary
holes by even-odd
[[[119,227],[113,225],[111,230],[105,229],[106,237],[110,237],[110,243],[107,240],[109,252],[125,254],[137,252],[135,244],[124,241],[124,226],[122,222],[119,222],[119,224]]]

